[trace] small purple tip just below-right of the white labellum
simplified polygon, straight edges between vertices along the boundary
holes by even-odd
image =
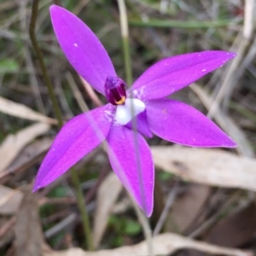
[[[125,125],[125,127],[131,130],[137,129],[137,131],[139,131],[146,137],[153,137],[153,134],[148,127],[146,110],[144,110],[142,113],[137,114],[134,119],[136,119],[136,127],[134,127],[134,120],[131,120],[127,125]]]

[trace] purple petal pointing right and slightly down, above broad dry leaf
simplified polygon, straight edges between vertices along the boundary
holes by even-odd
[[[195,147],[234,148],[236,143],[195,108],[169,99],[146,102],[148,126],[172,143]]]

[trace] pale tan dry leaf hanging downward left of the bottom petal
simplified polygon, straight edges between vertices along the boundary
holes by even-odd
[[[114,173],[109,173],[102,182],[96,199],[96,213],[93,225],[93,241],[97,247],[107,228],[108,218],[123,186]]]

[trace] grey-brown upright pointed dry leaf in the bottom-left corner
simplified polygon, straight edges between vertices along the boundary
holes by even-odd
[[[38,216],[38,202],[32,188],[26,188],[15,224],[15,255],[41,256],[44,235]]]

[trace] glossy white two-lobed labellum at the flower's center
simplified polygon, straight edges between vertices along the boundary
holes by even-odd
[[[128,124],[131,119],[145,110],[145,104],[139,99],[126,99],[124,105],[118,105],[114,116],[119,125]]]

